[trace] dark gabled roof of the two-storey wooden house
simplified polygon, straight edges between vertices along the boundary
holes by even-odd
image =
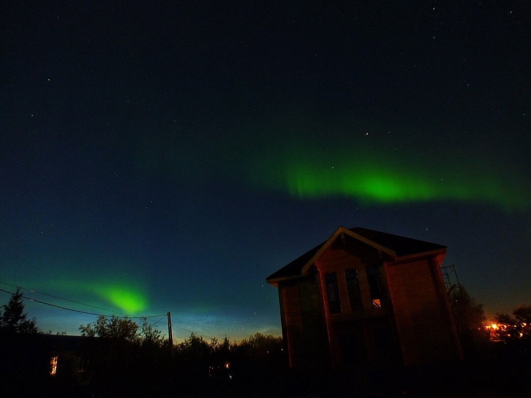
[[[326,241],[315,246],[302,256],[294,259],[277,272],[269,275],[265,280],[268,283],[276,284],[276,282],[280,280],[297,278],[297,276],[303,275],[324,250],[326,250],[327,247],[341,234],[346,234],[358,239],[367,245],[388,254],[392,258],[444,252],[447,248],[447,246],[436,243],[393,235],[392,233],[380,232],[367,228],[355,227],[347,229],[345,227],[339,227]]]

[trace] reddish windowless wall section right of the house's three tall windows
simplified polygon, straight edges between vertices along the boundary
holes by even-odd
[[[438,265],[426,257],[385,266],[405,365],[458,356]]]

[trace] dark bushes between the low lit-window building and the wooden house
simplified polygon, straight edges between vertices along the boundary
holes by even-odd
[[[161,337],[147,319],[100,316],[81,325],[84,350],[95,372],[92,384],[100,391],[131,386],[135,393],[173,388],[174,393],[267,385],[285,370],[282,338],[256,333],[241,342],[204,340],[195,333],[174,344]],[[96,371],[97,370],[97,371]],[[126,384],[125,384],[126,383]],[[127,387],[129,388],[129,387]],[[133,392],[131,391],[131,392]]]

